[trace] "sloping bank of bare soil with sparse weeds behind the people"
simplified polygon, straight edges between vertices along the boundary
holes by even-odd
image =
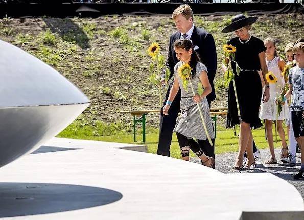
[[[221,30],[230,19],[231,16],[196,16],[194,19],[195,24],[211,32],[216,41],[217,99],[212,107],[227,106],[227,89],[220,65],[222,45],[233,33],[223,34]],[[285,45],[304,37],[303,26],[304,16],[300,14],[263,15],[251,33],[261,39],[276,39],[278,54],[284,58]],[[160,53],[167,58],[169,37],[175,31],[172,19],[167,16],[0,20],[0,39],[48,63],[89,97],[92,103],[81,119],[90,125],[97,121],[130,125],[131,116],[120,111],[160,109],[158,88],[148,80],[151,58],[146,51],[151,43],[157,42]],[[167,86],[163,88],[163,96],[166,90]],[[225,125],[225,119],[220,123]],[[159,114],[150,114],[148,126],[157,128],[158,125]]]

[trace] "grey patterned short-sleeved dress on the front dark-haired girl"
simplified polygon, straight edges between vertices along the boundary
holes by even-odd
[[[179,87],[181,90],[180,110],[181,116],[174,128],[175,132],[178,132],[188,138],[196,138],[199,140],[207,140],[207,135],[203,127],[202,119],[197,108],[197,104],[193,100],[193,92],[188,83],[188,91],[182,86],[182,79],[178,76],[178,68],[182,65],[182,62],[178,62],[174,67],[175,77],[178,78]],[[195,76],[191,79],[193,89],[197,93],[198,83],[200,82],[199,75],[201,72],[206,71],[207,68],[204,64],[198,62],[196,65]],[[204,121],[206,123],[207,131],[211,138],[214,138],[212,119],[210,115],[210,109],[206,97],[199,102],[200,109],[202,111]]]

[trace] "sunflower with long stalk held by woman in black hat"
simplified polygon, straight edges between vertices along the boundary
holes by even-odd
[[[225,84],[226,86],[229,85],[229,83],[233,82],[233,89],[235,91],[236,96],[236,102],[237,102],[237,109],[238,109],[238,116],[241,116],[240,113],[240,106],[239,106],[239,100],[238,100],[238,94],[237,94],[237,88],[236,88],[236,82],[235,82],[235,73],[233,72],[231,63],[234,62],[236,64],[236,71],[237,75],[240,75],[241,68],[239,67],[238,63],[235,61],[235,52],[237,51],[237,48],[232,45],[225,44],[223,46],[225,59],[223,60],[223,63],[227,66],[227,71],[225,72],[224,78],[225,78]],[[228,59],[228,64],[226,63],[226,59]]]

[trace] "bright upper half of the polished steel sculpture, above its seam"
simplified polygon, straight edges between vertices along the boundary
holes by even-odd
[[[54,68],[2,40],[0,76],[0,108],[90,102]]]

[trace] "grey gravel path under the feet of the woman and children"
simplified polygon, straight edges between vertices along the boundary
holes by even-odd
[[[255,165],[255,169],[247,171],[247,172],[270,172],[273,175],[276,175],[292,185],[296,187],[296,189],[301,193],[304,198],[304,181],[294,180],[293,175],[296,174],[295,169],[300,167],[301,158],[300,153],[297,153],[297,164],[295,165],[284,165],[280,160],[278,160],[280,154],[280,148],[275,149],[275,155],[277,164],[264,164],[270,157],[269,149],[261,149],[260,150],[262,157],[259,159],[258,163]],[[216,170],[219,170],[223,173],[238,173],[236,170],[232,169],[236,159],[237,153],[225,153],[225,154],[217,154],[216,155]],[[198,158],[191,158],[191,162],[201,163]]]

